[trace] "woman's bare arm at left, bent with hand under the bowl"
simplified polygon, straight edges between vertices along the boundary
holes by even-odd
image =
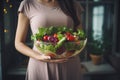
[[[26,35],[29,28],[29,19],[23,14],[18,15],[18,25],[15,36],[15,48],[22,54],[37,60],[49,59],[49,56],[40,55],[25,44]]]

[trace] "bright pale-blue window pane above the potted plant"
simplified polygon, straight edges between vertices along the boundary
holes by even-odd
[[[97,6],[93,8],[93,39],[102,38],[102,26],[103,26],[103,17],[104,17],[104,7]]]

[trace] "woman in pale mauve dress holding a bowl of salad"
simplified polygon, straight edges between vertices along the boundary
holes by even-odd
[[[39,27],[66,25],[77,29],[80,24],[82,8],[73,0],[23,0],[18,9],[18,25],[15,47],[22,54],[30,57],[26,80],[81,80],[79,56],[52,62],[41,55],[35,46],[25,44],[28,28],[35,34]]]

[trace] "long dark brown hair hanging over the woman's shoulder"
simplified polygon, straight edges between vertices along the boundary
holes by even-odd
[[[73,19],[74,27],[78,26],[80,24],[80,20],[78,19],[77,16],[77,11],[74,5],[75,2],[73,0],[57,0],[57,1],[62,11]]]

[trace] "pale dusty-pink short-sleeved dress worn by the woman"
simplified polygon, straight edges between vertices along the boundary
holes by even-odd
[[[23,0],[18,12],[22,12],[30,20],[33,34],[39,27],[73,26],[73,21],[60,8],[48,7],[37,0]],[[33,45],[33,50],[36,50]],[[82,80],[79,56],[64,63],[42,62],[30,58],[28,62],[26,80]]]

